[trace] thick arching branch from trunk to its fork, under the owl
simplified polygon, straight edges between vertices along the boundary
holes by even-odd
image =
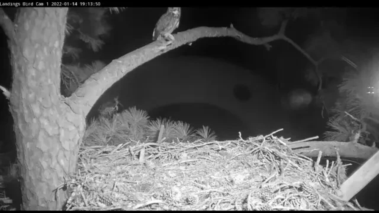
[[[197,27],[177,33],[174,37],[175,41],[166,49],[160,50],[160,42],[155,41],[113,60],[102,70],[91,75],[65,102],[75,113],[87,115],[96,100],[106,89],[110,88],[114,82],[120,80],[128,72],[169,50],[200,38],[232,37],[251,45],[263,45],[282,38],[280,33],[264,38],[252,38],[236,30],[232,25],[229,28]]]

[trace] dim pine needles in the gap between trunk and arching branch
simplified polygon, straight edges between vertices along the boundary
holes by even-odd
[[[93,61],[81,65],[80,49],[84,42],[88,50],[98,52],[109,37],[111,25],[107,22],[109,14],[120,13],[126,8],[70,8],[67,13],[65,41],[61,66],[61,88],[64,96],[70,96],[89,76],[103,69],[106,64]],[[75,46],[75,47],[74,47]]]

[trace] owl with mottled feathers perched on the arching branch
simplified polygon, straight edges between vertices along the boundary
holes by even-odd
[[[155,25],[153,31],[153,40],[160,38],[175,40],[172,32],[179,27],[180,7],[169,7]]]

